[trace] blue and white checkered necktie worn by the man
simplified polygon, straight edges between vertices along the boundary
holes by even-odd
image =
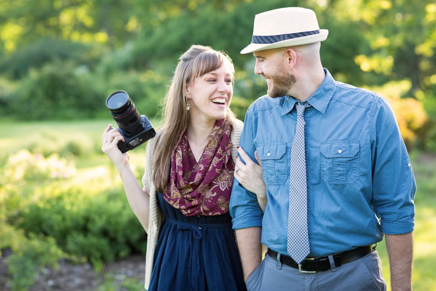
[[[310,253],[307,234],[307,180],[304,147],[304,111],[309,103],[296,105],[297,125],[291,147],[288,212],[288,253],[300,264]]]

